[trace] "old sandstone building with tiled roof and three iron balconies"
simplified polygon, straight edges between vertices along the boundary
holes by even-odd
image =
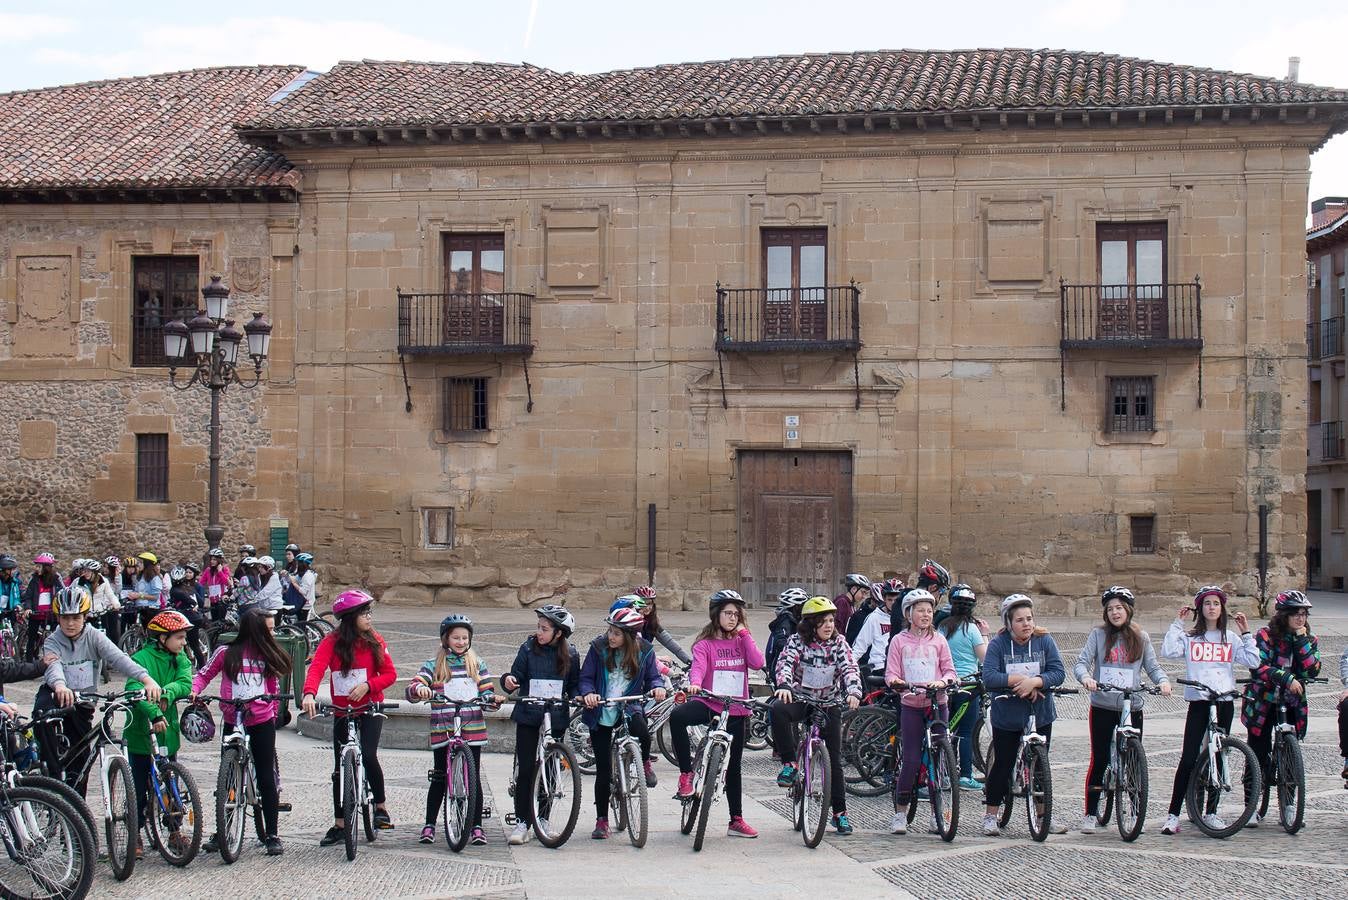
[[[229,435],[231,478],[251,481],[233,532],[286,517],[329,583],[586,602],[654,566],[700,605],[936,556],[1061,610],[1112,582],[1251,591],[1260,505],[1271,583],[1304,574],[1304,210],[1348,93],[1022,50],[599,75],[353,62],[279,93],[220,137],[294,198],[190,209],[251,222],[262,249],[240,256],[266,263],[256,299],[291,352],[233,399],[256,419]],[[43,306],[15,286],[13,234],[53,256],[80,217],[189,209],[53,187],[0,187],[20,319],[0,345]],[[187,251],[150,234],[128,255]],[[212,245],[226,282],[236,241]],[[100,334],[125,341],[129,286],[82,267],[93,371],[117,353]],[[171,426],[175,515],[200,521],[200,410],[123,366],[96,380]],[[20,432],[59,432],[81,397],[66,375],[0,362]],[[135,427],[51,462],[9,438],[0,459],[59,466],[62,497],[88,485],[139,539],[140,504],[96,486],[125,484]],[[5,485],[12,543],[70,546]]]

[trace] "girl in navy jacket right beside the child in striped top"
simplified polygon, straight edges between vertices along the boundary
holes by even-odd
[[[557,604],[539,606],[535,612],[538,626],[534,635],[520,644],[510,672],[501,678],[501,686],[507,691],[519,691],[526,697],[576,697],[581,683],[581,657],[568,643],[576,631],[576,617],[569,609]],[[519,846],[528,841],[534,827],[528,788],[522,785],[534,783],[534,757],[538,732],[543,728],[543,710],[534,703],[515,703],[511,718],[515,721],[516,788],[515,829],[510,834],[510,843]],[[553,737],[562,740],[562,733],[566,730],[565,715],[554,710],[549,726]]]

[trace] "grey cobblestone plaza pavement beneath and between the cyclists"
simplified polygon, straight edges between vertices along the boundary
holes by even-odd
[[[481,614],[479,614],[481,613]],[[399,671],[406,675],[435,645],[439,610],[380,610],[379,626],[390,639]],[[492,671],[508,664],[532,621],[519,612],[474,610],[480,621],[476,647]],[[670,628],[686,637],[700,624],[693,614],[673,614]],[[755,624],[763,620],[756,616]],[[581,639],[599,633],[600,613],[582,613]],[[1326,674],[1336,672],[1348,621],[1317,622]],[[762,625],[758,625],[762,629]],[[1051,622],[1065,655],[1074,656],[1085,624]],[[1163,622],[1148,624],[1159,640]],[[426,637],[430,635],[430,637]],[[582,644],[584,647],[584,644]],[[1170,666],[1167,664],[1167,668]],[[981,795],[962,795],[960,831],[953,843],[921,834],[887,833],[890,810],[882,799],[849,798],[856,826],[851,837],[829,834],[816,850],[801,845],[787,822],[785,794],[774,783],[776,765],[767,752],[748,753],[744,763],[745,816],[762,837],[731,839],[717,826],[702,853],[693,854],[678,833],[678,806],[670,798],[675,773],[663,760],[656,764],[661,784],[651,791],[651,837],[643,850],[615,837],[589,839],[593,823],[586,803],[576,835],[561,850],[537,842],[523,847],[506,845],[503,814],[508,807],[506,787],[511,759],[488,753],[484,788],[495,814],[487,825],[488,846],[450,853],[443,841],[417,843],[422,825],[427,752],[381,753],[388,777],[394,831],[380,833],[372,845],[361,843],[355,862],[346,862],[340,846],[319,847],[318,838],[330,825],[329,772],[332,750],[287,730],[280,737],[284,798],[295,811],[282,814],[286,854],[268,858],[249,845],[232,866],[204,856],[187,869],[174,869],[152,851],[137,864],[129,881],[113,881],[100,864],[93,896],[97,897],[593,897],[593,896],[762,896],[762,897],[1233,897],[1279,893],[1298,897],[1344,896],[1348,882],[1348,791],[1337,777],[1341,759],[1332,718],[1341,688],[1318,686],[1312,694],[1316,715],[1306,742],[1309,769],[1305,830],[1290,837],[1277,826],[1263,826],[1227,839],[1204,837],[1185,819],[1180,835],[1163,837],[1161,819],[1178,759],[1184,705],[1178,699],[1153,698],[1147,714],[1147,753],[1151,771],[1151,803],[1146,833],[1132,845],[1119,841],[1112,829],[1093,835],[1076,831],[1081,811],[1081,783],[1086,767],[1085,701],[1061,703],[1054,729],[1053,775],[1060,816],[1073,831],[1033,843],[1018,810],[1004,837],[977,834]],[[31,697],[26,684],[11,686],[12,699]],[[1236,726],[1236,733],[1243,733]],[[183,752],[204,798],[210,802],[216,772],[214,746],[186,745]],[[585,794],[592,783],[586,779]],[[97,790],[93,788],[97,804]],[[714,812],[724,822],[724,808]],[[212,829],[208,825],[208,834]]]

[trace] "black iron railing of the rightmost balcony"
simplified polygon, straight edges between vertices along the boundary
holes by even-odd
[[[1062,349],[1202,349],[1202,287],[1181,284],[1068,284]]]

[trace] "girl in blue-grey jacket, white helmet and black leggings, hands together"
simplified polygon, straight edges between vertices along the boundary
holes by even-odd
[[[1011,790],[1011,769],[1020,749],[1020,737],[1034,713],[1035,730],[1045,745],[1053,741],[1053,721],[1058,709],[1050,687],[1060,687],[1068,678],[1058,644],[1049,632],[1034,624],[1034,601],[1024,594],[1011,594],[1002,601],[1002,631],[988,643],[983,657],[983,684],[988,691],[1007,694],[993,701],[992,768],[984,783],[987,808],[983,834],[998,837],[998,811]],[[1050,834],[1065,834],[1066,826],[1049,823]]]

